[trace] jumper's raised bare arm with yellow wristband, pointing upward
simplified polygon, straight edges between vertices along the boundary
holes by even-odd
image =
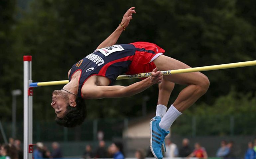
[[[133,13],[136,13],[135,12],[135,7],[131,7],[130,9],[127,10],[127,12],[124,14],[123,16],[123,19],[122,19],[122,22],[121,24],[126,28],[129,23],[130,23],[130,20],[132,20],[132,14]],[[124,28],[123,26],[118,26],[116,28],[116,30],[111,34],[109,35],[98,47],[97,49],[100,49],[100,48],[103,48],[103,47],[108,47],[108,46],[111,46],[111,45],[114,45],[116,44],[116,41],[118,40],[119,36],[121,35],[121,33],[123,32]]]

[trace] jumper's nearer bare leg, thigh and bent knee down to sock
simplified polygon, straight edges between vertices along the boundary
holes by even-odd
[[[154,60],[155,65],[158,70],[176,70],[190,68],[188,65],[175,60],[171,57],[161,55]],[[185,74],[176,74],[176,75],[167,75],[164,76],[165,80],[177,83],[188,85],[184,88],[177,99],[173,103],[175,108],[180,112],[183,112],[185,109],[190,107],[199,97],[201,97],[209,87],[208,78],[200,72],[185,73]],[[167,97],[169,100],[169,97]]]

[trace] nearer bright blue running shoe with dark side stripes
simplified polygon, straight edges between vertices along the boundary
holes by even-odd
[[[150,120],[150,150],[157,159],[162,159],[165,152],[165,136],[170,133],[159,127],[161,118],[159,116]]]

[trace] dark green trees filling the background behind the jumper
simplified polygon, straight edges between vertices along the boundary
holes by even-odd
[[[256,14],[252,0],[34,0],[15,25],[12,22],[14,3],[3,2],[11,6],[1,10],[8,14],[9,20],[8,23],[0,25],[3,30],[0,30],[0,39],[4,41],[0,44],[3,52],[0,70],[4,73],[0,79],[0,113],[6,114],[6,117],[10,115],[6,112],[10,112],[11,99],[5,92],[10,91],[10,88],[22,89],[23,55],[33,56],[33,81],[67,79],[71,66],[93,52],[118,26],[123,14],[131,6],[136,7],[137,14],[133,16],[118,43],[157,43],[166,50],[167,56],[192,67],[256,59]],[[10,31],[12,34],[8,36],[6,33],[10,34]],[[8,43],[9,38],[14,44]],[[231,87],[240,94],[256,91],[256,67],[210,71],[205,74],[211,85],[197,104],[207,103],[209,109],[210,105],[216,105],[221,100],[219,96],[230,92]],[[123,80],[116,84],[128,85],[135,81],[137,79]],[[35,120],[54,118],[54,111],[50,106],[51,92],[61,87],[35,88]],[[176,86],[170,103],[182,88],[183,86]],[[141,115],[141,103],[145,95],[150,97],[147,102],[148,111],[155,110],[157,85],[129,98],[86,101],[89,118]],[[251,94],[250,98],[253,97],[255,94]],[[241,101],[241,104],[246,102],[243,95],[232,96],[231,101],[233,98]],[[224,101],[223,103],[228,105]],[[201,107],[203,109],[206,106]],[[193,109],[199,108],[192,108],[192,111]],[[223,112],[221,106],[214,110]],[[205,109],[200,112],[212,113]],[[237,110],[234,108],[234,111],[227,112],[236,113]],[[19,117],[22,119],[22,113]]]

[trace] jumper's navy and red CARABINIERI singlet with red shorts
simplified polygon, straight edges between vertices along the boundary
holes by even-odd
[[[68,79],[70,81],[76,71],[81,71],[78,86],[78,96],[81,97],[82,86],[90,76],[106,77],[109,85],[113,85],[116,78],[124,73],[133,75],[151,72],[156,68],[153,61],[164,52],[164,49],[149,42],[97,49],[72,66]]]

